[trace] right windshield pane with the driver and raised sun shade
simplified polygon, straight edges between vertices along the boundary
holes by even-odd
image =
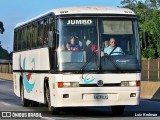
[[[102,70],[140,70],[137,21],[101,19],[99,28]]]

